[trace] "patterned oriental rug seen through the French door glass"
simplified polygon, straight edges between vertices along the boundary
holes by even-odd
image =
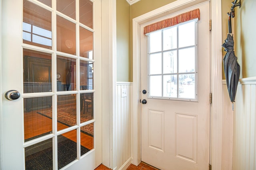
[[[40,111],[37,113],[52,119],[52,110]],[[92,113],[92,109],[90,108],[88,108],[88,112],[85,112],[84,114],[83,114],[83,111],[80,111],[80,122],[83,123],[83,122],[92,120],[93,117],[91,113]],[[69,127],[76,125],[76,107],[72,107],[72,106],[58,107],[57,119],[59,123],[62,123]],[[93,137],[93,131],[94,131],[93,123],[82,126],[81,131]]]

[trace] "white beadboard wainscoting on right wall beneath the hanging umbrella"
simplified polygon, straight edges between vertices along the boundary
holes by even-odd
[[[223,84],[226,85],[226,84]],[[226,89],[226,86],[223,86]],[[226,100],[227,90],[225,91]],[[232,115],[229,115],[232,107],[229,104],[226,106],[225,119],[229,119]],[[228,113],[228,114],[227,114]],[[232,112],[231,112],[232,113]],[[238,84],[236,92],[236,102],[234,103],[233,112],[233,143],[228,140],[226,141],[224,149],[228,152],[231,151],[229,146],[232,145],[232,167],[228,165],[223,170],[255,170],[256,169],[256,77],[243,78]],[[228,120],[226,120],[228,122]],[[229,127],[227,127],[229,128]],[[227,130],[227,129],[226,129]],[[227,130],[228,131],[228,130]],[[226,134],[228,135],[228,134]],[[226,138],[227,139],[227,138]],[[226,152],[226,155],[228,154]],[[225,154],[223,154],[225,155]]]

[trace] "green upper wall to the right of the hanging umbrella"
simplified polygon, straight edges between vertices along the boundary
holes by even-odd
[[[241,66],[240,78],[256,76],[256,1],[242,0],[235,8],[235,54]]]

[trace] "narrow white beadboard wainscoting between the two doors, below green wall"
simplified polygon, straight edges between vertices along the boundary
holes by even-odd
[[[126,89],[126,97],[122,97],[122,89]],[[117,114],[117,169],[126,170],[132,162],[131,150],[131,111],[132,83],[117,82],[116,85]],[[103,127],[104,128],[104,127]]]

